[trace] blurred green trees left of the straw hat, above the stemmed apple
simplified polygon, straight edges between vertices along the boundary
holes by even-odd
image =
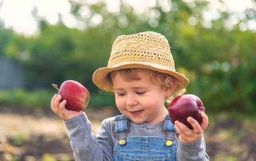
[[[111,51],[111,36],[93,29],[82,32],[63,25],[48,25],[40,35],[23,39],[14,38],[6,55],[22,61],[31,87],[50,88],[52,83],[60,86],[72,79],[95,90],[93,71],[107,64]]]

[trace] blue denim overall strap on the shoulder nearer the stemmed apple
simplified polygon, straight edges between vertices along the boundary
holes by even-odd
[[[124,115],[115,116],[115,130],[116,133],[128,131],[128,118]]]

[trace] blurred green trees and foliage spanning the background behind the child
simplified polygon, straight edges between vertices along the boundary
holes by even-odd
[[[5,47],[0,48],[0,54],[23,63],[29,87],[51,88],[51,83],[60,86],[63,81],[75,80],[91,92],[92,106],[115,106],[114,96],[96,94],[99,91],[92,82],[93,72],[107,65],[111,44],[117,36],[151,30],[169,40],[176,70],[190,79],[187,93],[198,95],[207,111],[256,112],[256,33],[239,30],[239,24],[252,20],[255,11],[247,9],[241,16],[246,18],[227,28],[234,14],[218,11],[218,17],[204,19],[203,11],[209,10],[204,0],[187,3],[173,0],[170,11],[163,11],[157,0],[156,6],[139,14],[122,0],[120,12],[108,11],[104,2],[80,4],[70,0],[70,3],[71,13],[84,22],[86,29],[69,29],[61,22],[49,25],[43,19],[39,20],[41,33],[31,37],[1,29],[0,45]],[[87,16],[80,14],[84,8],[90,12]],[[95,15],[101,15],[101,23],[92,23]],[[3,37],[8,37],[7,41]],[[35,99],[41,104],[49,103],[52,97],[42,93],[47,97],[33,98],[37,96],[31,94],[26,98],[27,94],[14,91],[0,101],[19,104],[26,100],[31,107],[31,104],[36,106]]]

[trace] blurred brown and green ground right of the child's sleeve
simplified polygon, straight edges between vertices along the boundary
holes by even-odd
[[[222,111],[208,116],[204,138],[212,161],[256,160],[255,115]]]

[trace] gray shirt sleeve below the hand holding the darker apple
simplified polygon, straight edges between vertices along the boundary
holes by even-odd
[[[209,161],[203,136],[193,143],[183,143],[178,137],[176,141],[177,161]]]

